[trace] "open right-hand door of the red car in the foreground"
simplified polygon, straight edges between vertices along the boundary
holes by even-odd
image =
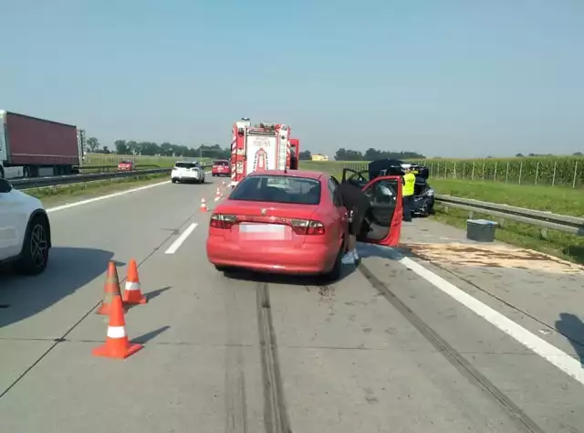
[[[403,216],[401,176],[379,176],[372,181],[368,177],[368,170],[343,170],[343,182],[359,186],[370,198],[370,209],[357,240],[396,247],[400,243]]]

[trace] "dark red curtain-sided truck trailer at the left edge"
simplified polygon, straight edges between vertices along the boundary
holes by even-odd
[[[77,126],[0,111],[0,177],[78,173],[84,143]]]

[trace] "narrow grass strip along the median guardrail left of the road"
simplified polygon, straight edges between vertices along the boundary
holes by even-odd
[[[120,177],[107,180],[84,182],[70,185],[47,186],[44,188],[31,188],[23,192],[39,198],[44,206],[58,206],[72,203],[75,198],[91,198],[98,195],[107,195],[135,186],[157,184],[168,179],[169,174],[143,174],[136,177]],[[73,199],[73,200],[72,200]]]

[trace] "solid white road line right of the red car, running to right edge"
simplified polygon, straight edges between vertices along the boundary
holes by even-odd
[[[464,290],[458,289],[454,284],[433,273],[432,270],[424,268],[420,263],[412,259],[401,256],[395,249],[390,249],[391,254],[401,265],[412,270],[413,273],[431,283],[435,288],[442,290],[454,301],[462,303],[466,308],[485,319],[485,321],[514,338],[518,343],[523,344],[527,349],[535,352],[549,363],[556,365],[564,373],[584,385],[584,369],[578,360],[559,350],[555,345],[547,343],[536,334],[530,333],[523,326],[508,319],[505,315],[495,311],[485,303],[473,298]]]

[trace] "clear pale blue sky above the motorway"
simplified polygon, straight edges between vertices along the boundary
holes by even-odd
[[[581,0],[0,0],[0,108],[118,138],[584,151]]]

